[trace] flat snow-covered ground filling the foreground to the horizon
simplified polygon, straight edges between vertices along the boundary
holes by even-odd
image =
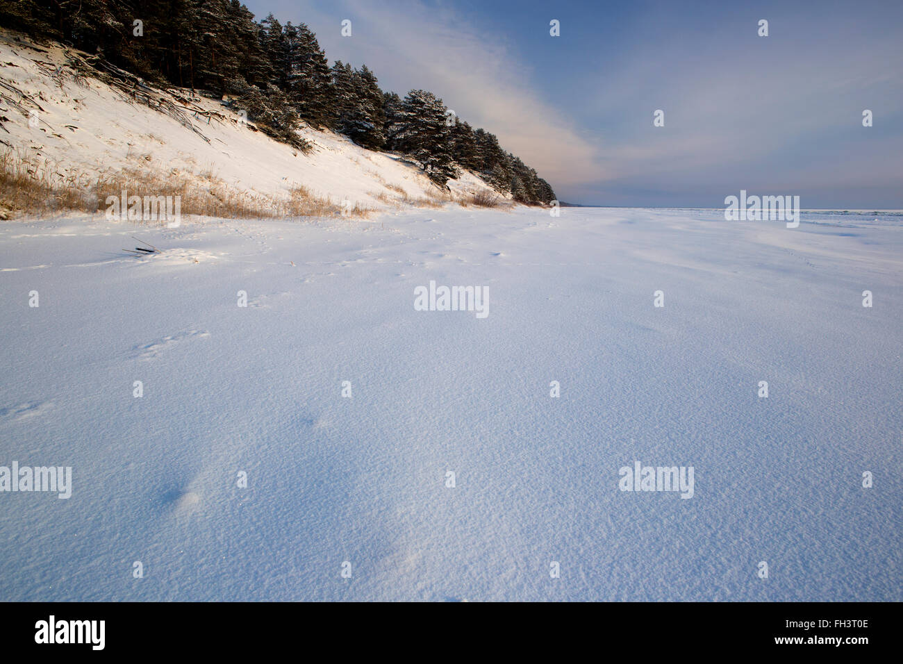
[[[899,601],[901,220],[3,222],[0,599]]]

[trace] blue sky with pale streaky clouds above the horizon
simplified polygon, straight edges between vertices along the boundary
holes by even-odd
[[[306,23],[384,90],[433,91],[561,201],[723,207],[746,190],[903,209],[900,0],[245,4]]]

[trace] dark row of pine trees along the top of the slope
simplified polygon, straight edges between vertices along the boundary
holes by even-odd
[[[237,94],[236,106],[270,136],[302,147],[300,122],[335,128],[370,149],[408,154],[434,182],[456,177],[456,164],[499,192],[527,203],[554,200],[534,169],[483,129],[449,123],[442,100],[411,90],[383,93],[376,75],[336,62],[330,69],[316,36],[273,16],[255,23],[239,0],[0,0],[0,23],[39,39],[97,53],[150,82]],[[133,21],[144,21],[136,37]]]

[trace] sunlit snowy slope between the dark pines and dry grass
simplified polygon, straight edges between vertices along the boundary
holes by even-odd
[[[413,200],[440,193],[419,169],[397,155],[365,150],[345,136],[310,128],[301,134],[314,150],[300,154],[242,125],[236,113],[214,99],[198,96],[194,103],[226,114],[227,121],[191,117],[200,134],[193,132],[97,79],[73,79],[61,47],[41,52],[16,45],[13,39],[12,33],[0,31],[3,79],[37,99],[42,110],[32,123],[36,126],[29,124],[30,117],[7,112],[8,133],[0,134],[0,139],[39,173],[52,173],[54,182],[70,178],[96,182],[99,176],[133,167],[155,173],[175,169],[180,180],[193,180],[197,186],[213,176],[236,192],[278,198],[300,184],[323,199],[348,200],[375,210],[402,204],[405,196],[399,190]],[[488,189],[467,171],[449,187],[452,194]]]

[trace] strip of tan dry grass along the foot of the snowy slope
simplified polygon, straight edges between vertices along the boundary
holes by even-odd
[[[23,154],[0,153],[0,219],[16,214],[46,215],[67,210],[94,213],[106,210],[108,196],[178,196],[183,215],[226,219],[278,217],[366,217],[372,210],[358,202],[335,203],[293,187],[287,198],[236,189],[212,171],[197,175],[178,169],[149,170],[144,155],[99,178],[84,173],[66,174],[57,164],[30,162]]]

